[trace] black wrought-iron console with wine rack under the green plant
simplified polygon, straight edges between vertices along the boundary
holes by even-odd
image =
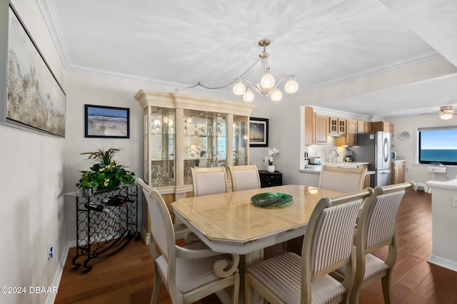
[[[88,263],[92,258],[107,258],[119,252],[134,237],[139,237],[138,191],[136,185],[118,187],[84,196],[81,192],[69,192],[65,196],[76,198],[76,263],[84,256],[83,273],[91,271]]]

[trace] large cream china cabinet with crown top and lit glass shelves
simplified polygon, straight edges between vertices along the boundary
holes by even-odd
[[[174,199],[192,192],[191,167],[248,163],[248,103],[139,90],[144,179]]]

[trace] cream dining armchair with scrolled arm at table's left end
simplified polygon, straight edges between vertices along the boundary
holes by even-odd
[[[239,274],[237,254],[211,251],[201,242],[184,247],[176,245],[175,231],[164,199],[143,187],[151,216],[150,246],[154,261],[154,290],[151,304],[157,303],[162,280],[172,303],[194,303],[216,291],[232,287],[231,303],[238,303]]]

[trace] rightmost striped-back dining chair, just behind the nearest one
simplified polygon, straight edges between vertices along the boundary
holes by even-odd
[[[405,192],[414,187],[416,183],[412,181],[376,187],[374,196],[363,204],[356,232],[356,273],[349,295],[350,303],[358,303],[360,290],[379,279],[384,303],[392,303],[391,275],[396,261],[396,214]],[[371,254],[386,246],[388,256],[384,261]],[[342,281],[346,269],[339,268],[333,275]]]

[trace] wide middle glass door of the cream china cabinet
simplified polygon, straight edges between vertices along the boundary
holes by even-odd
[[[184,110],[184,184],[191,167],[226,166],[226,116]]]

